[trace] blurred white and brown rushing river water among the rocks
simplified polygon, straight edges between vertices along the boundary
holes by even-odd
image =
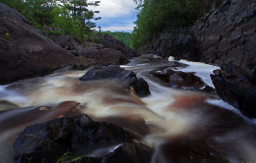
[[[152,95],[138,98],[116,81],[79,81],[86,71],[57,71],[0,86],[1,161],[13,162],[12,144],[26,126],[81,113],[141,135],[146,145],[154,147],[152,163],[176,163],[176,156],[183,154],[177,144],[184,140],[210,146],[231,163],[256,161],[253,120],[216,95],[170,88],[153,75],[167,69],[196,72],[213,86],[209,75],[218,67],[185,60],[139,59],[122,67],[144,78]]]

